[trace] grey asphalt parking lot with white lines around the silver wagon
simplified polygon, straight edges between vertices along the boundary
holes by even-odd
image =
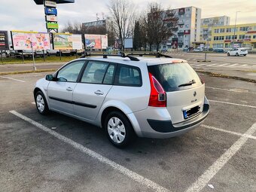
[[[255,191],[256,86],[202,77],[211,105],[202,126],[118,149],[96,126],[38,114],[43,73],[0,76],[1,191]]]

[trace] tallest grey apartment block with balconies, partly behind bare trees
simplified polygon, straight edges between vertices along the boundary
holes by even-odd
[[[176,8],[166,12],[178,17],[178,28],[175,35],[163,42],[162,49],[192,47],[193,42],[200,41],[200,8]]]

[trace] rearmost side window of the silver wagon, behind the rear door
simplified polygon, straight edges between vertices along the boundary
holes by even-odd
[[[120,66],[117,75],[117,84],[139,87],[142,85],[142,77],[139,68],[132,66]]]

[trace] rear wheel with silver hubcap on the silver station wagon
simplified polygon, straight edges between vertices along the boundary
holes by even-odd
[[[130,120],[119,111],[111,111],[105,117],[104,129],[109,141],[117,148],[125,148],[135,138]]]

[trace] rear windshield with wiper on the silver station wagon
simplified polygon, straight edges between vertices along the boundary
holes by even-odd
[[[197,73],[187,62],[148,66],[148,72],[157,78],[166,92],[202,85]]]

